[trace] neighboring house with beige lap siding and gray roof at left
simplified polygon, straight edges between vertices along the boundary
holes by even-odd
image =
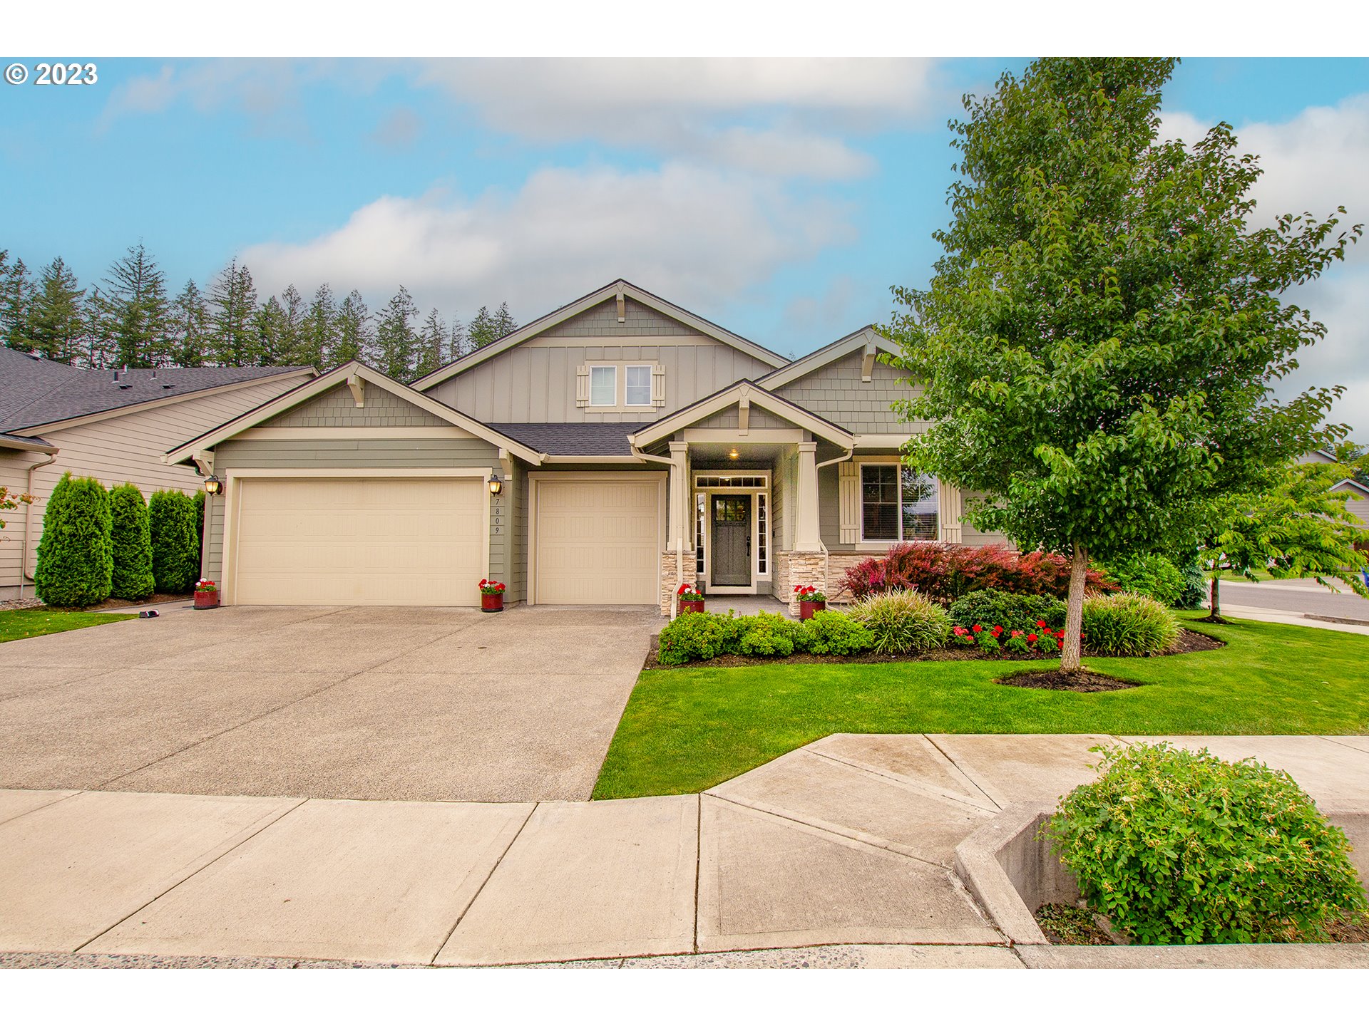
[[[168,445],[314,378],[309,367],[92,371],[0,347],[0,484],[34,502],[3,517],[0,599],[31,595],[42,512],[66,471],[144,497],[193,492],[200,475],[163,458]]]

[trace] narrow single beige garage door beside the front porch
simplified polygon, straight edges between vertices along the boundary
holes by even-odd
[[[661,491],[642,475],[538,482],[537,601],[656,605]]]

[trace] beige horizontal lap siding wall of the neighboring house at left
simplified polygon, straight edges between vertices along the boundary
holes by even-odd
[[[175,446],[209,431],[281,393],[309,380],[308,373],[293,373],[257,382],[238,389],[189,394],[179,402],[151,409],[131,408],[126,413],[77,424],[67,428],[41,431],[62,451],[57,461],[34,475],[33,524],[29,547],[34,553],[42,535],[42,513],[48,495],[66,471],[75,477],[94,477],[105,487],[131,482],[151,498],[153,491],[185,491],[200,488],[200,475],[193,465],[168,466],[162,454]],[[0,457],[0,482],[16,491],[27,487],[27,468],[41,461],[41,453],[12,453]],[[0,599],[14,598],[22,580],[23,509],[4,517],[8,527],[0,531]],[[29,566],[36,562],[30,555]],[[25,581],[25,595],[31,595],[33,583]]]

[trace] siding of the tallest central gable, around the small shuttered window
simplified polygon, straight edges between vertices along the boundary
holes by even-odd
[[[641,311],[652,317],[634,317],[634,306],[628,302],[626,324],[617,323],[616,302],[586,311],[434,384],[427,394],[496,424],[634,423],[656,420],[734,382],[773,369],[648,308]],[[664,368],[664,405],[597,412],[575,404],[575,376],[582,364],[637,361]]]

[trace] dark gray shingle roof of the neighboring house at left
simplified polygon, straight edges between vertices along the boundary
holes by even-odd
[[[0,347],[0,432],[107,413],[153,399],[259,378],[312,371],[309,367],[162,367],[94,371]]]

